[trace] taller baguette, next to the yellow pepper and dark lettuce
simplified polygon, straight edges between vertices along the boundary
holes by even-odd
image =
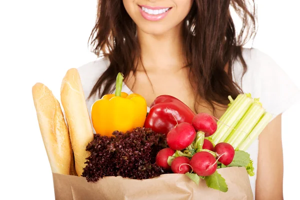
[[[76,68],[67,70],[61,82],[60,99],[69,129],[74,152],[75,170],[81,176],[86,158],[87,144],[93,139],[92,126],[87,111],[80,76]]]

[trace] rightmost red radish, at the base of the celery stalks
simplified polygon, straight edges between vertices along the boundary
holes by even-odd
[[[214,146],[214,152],[217,154],[218,161],[224,165],[232,162],[235,153],[233,146],[226,142],[217,143]]]

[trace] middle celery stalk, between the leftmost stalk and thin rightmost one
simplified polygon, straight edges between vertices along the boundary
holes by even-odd
[[[225,139],[225,142],[231,144],[235,149],[254,128],[264,111],[260,103],[254,102]]]

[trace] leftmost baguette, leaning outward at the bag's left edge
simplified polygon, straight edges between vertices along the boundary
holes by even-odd
[[[60,104],[42,83],[32,86],[32,97],[51,171],[68,175],[72,149]]]

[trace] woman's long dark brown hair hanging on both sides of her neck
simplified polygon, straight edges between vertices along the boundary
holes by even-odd
[[[230,10],[231,9],[231,10]],[[237,34],[232,12],[241,19]],[[187,67],[193,74],[195,92],[213,104],[227,104],[228,95],[235,98],[242,93],[233,81],[231,69],[235,59],[243,65],[244,45],[256,33],[254,0],[194,0],[184,19]],[[115,88],[115,77],[122,72],[126,78],[135,73],[135,60],[140,58],[136,25],[127,14],[121,0],[98,0],[96,24],[89,41],[97,56],[105,56],[110,64],[92,88],[89,97],[99,97]],[[227,71],[225,70],[227,67]],[[104,84],[104,85],[103,85]]]

